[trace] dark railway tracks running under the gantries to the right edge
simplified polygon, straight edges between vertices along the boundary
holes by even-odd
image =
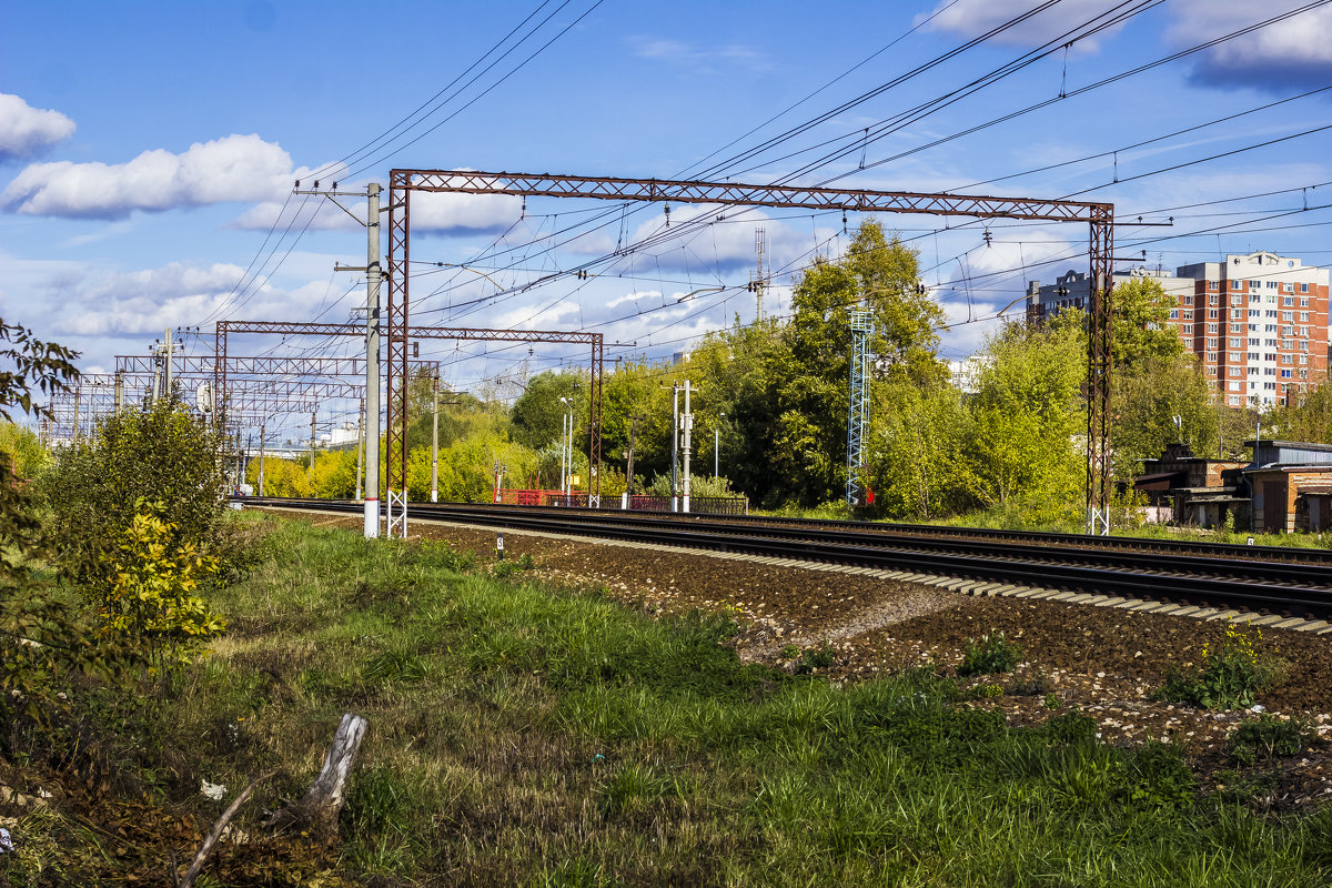
[[[250,498],[252,505],[360,513],[349,501]],[[1123,541],[1072,534],[1011,534],[851,522],[662,517],[618,510],[525,509],[472,503],[412,503],[418,519],[578,534],[631,542],[745,553],[876,570],[916,571],[1024,587],[1092,592],[1235,611],[1332,618],[1332,556],[1301,550],[1299,560],[1272,547]],[[1136,543],[1136,545],[1135,545]]]

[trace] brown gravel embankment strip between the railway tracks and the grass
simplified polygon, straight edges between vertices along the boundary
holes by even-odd
[[[361,527],[360,517],[289,514],[325,526]],[[494,530],[428,522],[413,523],[412,535],[484,554],[496,542]],[[1203,646],[1224,635],[1217,620],[968,596],[854,574],[518,531],[505,531],[505,553],[531,555],[537,567],[529,576],[605,588],[611,598],[654,614],[726,612],[741,626],[734,644],[746,660],[790,667],[783,648],[826,643],[835,662],[818,671],[834,682],[930,663],[948,671],[962,662],[970,639],[1003,630],[1022,644],[1024,662],[1010,676],[968,682],[999,683],[1008,691],[976,706],[1002,710],[1012,724],[1038,723],[1075,707],[1096,718],[1107,742],[1183,746],[1212,785],[1232,779],[1227,735],[1257,718],[1150,699],[1171,664],[1197,663]],[[1285,663],[1284,678],[1261,695],[1263,706],[1299,720],[1315,738],[1303,756],[1259,768],[1271,784],[1260,801],[1287,809],[1332,800],[1332,634],[1264,628],[1260,650]],[[1059,699],[1060,708],[1046,708],[1047,694]]]

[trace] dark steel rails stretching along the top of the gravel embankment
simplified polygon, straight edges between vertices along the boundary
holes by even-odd
[[[354,511],[346,501],[250,499],[254,505]],[[422,519],[583,534],[778,558],[911,570],[964,579],[1032,587],[1095,591],[1135,599],[1185,602],[1236,610],[1284,611],[1297,616],[1332,616],[1332,567],[1299,568],[1233,558],[1172,556],[1166,553],[1114,553],[1060,547],[1014,546],[987,541],[947,542],[924,551],[922,541],[884,545],[883,534],[737,525],[718,521],[678,522],[625,513],[577,514],[563,509],[458,506],[418,503]],[[582,511],[582,510],[579,510]],[[896,543],[900,543],[898,546]],[[1201,571],[1201,572],[1199,572]],[[1281,582],[1273,582],[1273,575]]]

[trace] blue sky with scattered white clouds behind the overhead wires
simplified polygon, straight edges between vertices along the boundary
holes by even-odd
[[[364,264],[364,234],[340,209],[290,197],[292,182],[316,169],[344,188],[386,182],[401,166],[750,182],[794,174],[807,184],[1035,197],[1091,189],[1083,196],[1112,200],[1122,218],[1175,217],[1173,229],[1120,226],[1118,256],[1146,249],[1148,261],[1173,268],[1268,249],[1327,265],[1328,212],[1303,206],[1332,204],[1332,184],[1303,189],[1332,182],[1332,130],[1308,132],[1332,124],[1332,91],[1293,97],[1332,85],[1332,4],[1078,95],[1300,5],[0,0],[4,32],[29,36],[7,40],[0,53],[0,317],[81,350],[89,371],[144,353],[166,326],[346,320],[364,286],[333,264]],[[1114,12],[1135,15],[1063,48],[1070,33]],[[1048,55],[1016,73],[879,134],[883,121],[1047,43]],[[486,63],[496,64],[482,71],[474,63],[493,47]],[[1059,100],[1060,92],[1075,95]],[[1212,122],[1281,100],[1289,101]],[[337,165],[437,103],[410,130],[418,140]],[[809,121],[817,122],[767,150],[722,162]],[[1191,126],[1200,128],[1131,148]],[[1272,140],[1284,141],[1255,148]],[[1239,153],[1204,160],[1227,152]],[[1028,172],[1055,164],[1064,165]],[[1268,192],[1280,193],[1247,197]],[[737,316],[753,318],[742,288],[755,226],[766,232],[767,308],[778,313],[793,276],[846,242],[839,214],[807,212],[718,221],[717,208],[677,206],[679,234],[662,237],[663,208],[638,205],[591,228],[587,220],[609,206],[422,204],[413,254],[477,272],[424,273],[413,284],[413,321],[598,329],[622,343],[607,345],[607,357],[669,355]],[[1287,210],[1301,212],[1260,221]],[[687,225],[695,216],[705,221]],[[1024,280],[1086,268],[1082,226],[999,221],[986,244],[986,226],[964,220],[882,221],[920,252],[922,277],[948,312],[940,334],[948,357],[979,347]],[[611,256],[649,236],[655,246]],[[590,281],[555,274],[534,284],[583,262],[597,272]],[[318,343],[320,351],[254,339],[232,351],[284,347],[350,353],[354,343]],[[450,383],[472,390],[581,357],[493,349],[426,343],[421,357],[446,361]]]

